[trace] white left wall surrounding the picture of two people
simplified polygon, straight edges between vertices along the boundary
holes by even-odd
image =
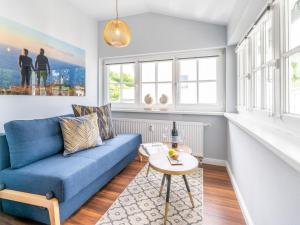
[[[0,0],[0,15],[86,51],[86,96],[0,96],[3,123],[70,113],[71,104],[97,104],[97,22],[60,0]]]

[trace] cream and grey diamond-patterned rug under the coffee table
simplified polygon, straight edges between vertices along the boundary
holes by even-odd
[[[96,225],[162,225],[166,184],[159,197],[162,174],[145,166]],[[186,191],[182,176],[172,176],[168,225],[202,225],[203,176],[199,168],[187,176],[195,208]]]

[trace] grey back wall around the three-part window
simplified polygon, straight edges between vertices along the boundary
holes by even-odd
[[[122,49],[111,48],[103,40],[99,44],[100,58],[137,55],[147,53],[159,53],[168,51],[180,51],[189,49],[226,48],[226,27],[208,23],[195,22],[192,20],[179,19],[160,14],[146,13],[124,18],[132,31],[131,44]],[[99,34],[103,31],[105,22],[99,23]],[[230,79],[236,76],[233,65],[235,55],[233,48],[226,49],[226,59],[230,67],[228,70]],[[227,51],[228,50],[228,51]],[[228,53],[227,53],[228,52]],[[227,63],[226,63],[227,64]],[[100,73],[100,79],[102,79]],[[226,75],[227,76],[227,75]],[[235,107],[234,84],[230,85],[227,98],[228,109]],[[226,106],[227,108],[227,106]],[[155,113],[120,113],[115,112],[114,117],[143,118],[178,121],[201,121],[211,124],[205,130],[204,157],[226,159],[226,119],[223,116],[199,116],[199,115],[172,115]]]

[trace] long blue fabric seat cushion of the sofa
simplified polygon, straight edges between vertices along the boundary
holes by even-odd
[[[119,135],[103,146],[69,157],[57,154],[20,169],[5,169],[0,172],[0,182],[9,189],[34,194],[53,191],[60,202],[68,201],[136,151],[140,142],[140,135]]]

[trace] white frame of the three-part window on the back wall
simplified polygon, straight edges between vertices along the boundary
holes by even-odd
[[[141,96],[141,64],[142,62],[151,61],[164,61],[172,60],[173,63],[173,80],[172,80],[172,94],[173,104],[168,106],[169,111],[195,111],[195,112],[224,112],[225,111],[225,60],[224,49],[212,50],[193,50],[182,52],[158,53],[158,54],[145,54],[124,57],[110,57],[100,59],[103,68],[103,102],[109,102],[108,90],[108,73],[106,65],[109,64],[122,64],[122,63],[135,63],[135,103],[112,103],[112,108],[116,110],[137,109],[143,110],[145,105],[142,103]],[[179,72],[178,60],[183,58],[205,58],[205,57],[218,57],[217,65],[217,103],[216,104],[179,104]],[[198,96],[195,96],[198,97]],[[159,110],[160,105],[153,105],[153,110]]]

